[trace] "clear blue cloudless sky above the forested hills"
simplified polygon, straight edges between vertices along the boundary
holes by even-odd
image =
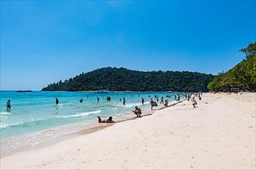
[[[217,74],[255,42],[255,1],[1,1],[1,90],[106,66]]]

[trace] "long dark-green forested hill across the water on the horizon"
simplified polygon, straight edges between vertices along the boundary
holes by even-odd
[[[212,74],[151,71],[142,72],[125,68],[102,68],[81,73],[74,78],[51,83],[42,90],[113,90],[113,91],[207,91]]]

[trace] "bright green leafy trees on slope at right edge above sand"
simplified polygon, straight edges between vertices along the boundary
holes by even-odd
[[[209,83],[209,90],[227,92],[232,87],[239,87],[240,90],[256,90],[256,42],[240,51],[245,54],[245,59],[227,73],[216,76]]]

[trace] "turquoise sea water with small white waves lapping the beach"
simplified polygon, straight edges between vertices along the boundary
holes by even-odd
[[[143,114],[151,113],[150,97],[156,100],[154,95],[157,95],[159,104],[161,97],[166,98],[171,94],[173,95],[173,93],[0,91],[1,157],[31,148],[41,141],[92,128],[98,125],[97,116],[102,119],[112,116],[115,121],[135,117],[132,112],[135,106],[140,107]],[[108,96],[111,97],[111,101],[106,100]],[[58,98],[59,104],[55,104],[55,97]],[[123,97],[126,99],[125,105],[123,105]],[[141,97],[145,99],[144,105],[141,104]],[[79,102],[81,98],[82,103]],[[6,110],[6,102],[9,99],[12,109]]]

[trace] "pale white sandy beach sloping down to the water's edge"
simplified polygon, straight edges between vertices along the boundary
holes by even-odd
[[[2,158],[1,169],[255,169],[255,98],[205,93],[196,108],[185,100]]]

